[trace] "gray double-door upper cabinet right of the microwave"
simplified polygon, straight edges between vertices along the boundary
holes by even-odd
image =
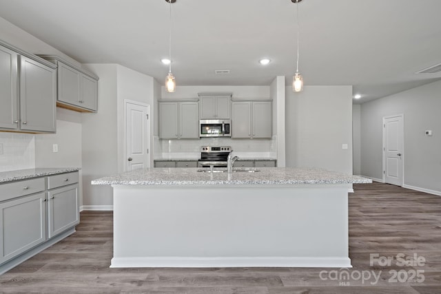
[[[232,138],[271,138],[272,101],[234,101]]]

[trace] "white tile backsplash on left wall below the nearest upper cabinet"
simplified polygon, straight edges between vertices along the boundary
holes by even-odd
[[[0,171],[35,168],[35,136],[0,132]]]

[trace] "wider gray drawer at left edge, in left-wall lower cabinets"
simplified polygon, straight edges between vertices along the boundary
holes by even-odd
[[[30,195],[45,190],[45,178],[33,178],[0,185],[0,201]]]

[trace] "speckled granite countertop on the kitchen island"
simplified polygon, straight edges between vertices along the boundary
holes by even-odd
[[[359,184],[372,180],[327,171],[295,167],[235,168],[245,172],[227,174],[225,169],[209,172],[207,168],[148,168],[92,180],[92,185],[309,185]],[[224,171],[224,172],[221,172]],[[247,172],[249,170],[258,170]]]

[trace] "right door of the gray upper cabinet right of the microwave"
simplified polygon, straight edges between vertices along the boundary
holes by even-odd
[[[271,138],[272,116],[270,101],[253,102],[253,138]]]

